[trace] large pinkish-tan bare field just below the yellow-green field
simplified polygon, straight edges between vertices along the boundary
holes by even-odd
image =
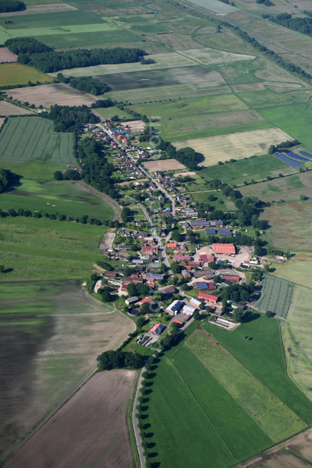
[[[33,102],[35,106],[41,104],[44,107],[50,107],[54,104],[60,106],[81,106],[86,104],[90,106],[97,99],[95,96],[71,88],[64,83],[34,86],[33,88],[14,88],[7,91],[7,94],[13,96],[13,99],[22,102]]]

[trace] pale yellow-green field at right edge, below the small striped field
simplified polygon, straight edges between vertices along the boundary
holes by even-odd
[[[311,270],[307,273],[311,280]],[[312,290],[294,285],[287,322],[282,336],[287,370],[291,379],[312,400]]]

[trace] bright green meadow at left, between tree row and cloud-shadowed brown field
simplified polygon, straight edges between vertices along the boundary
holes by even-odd
[[[107,228],[50,219],[0,219],[0,281],[88,278],[102,260],[99,242]],[[113,263],[117,264],[117,263]]]

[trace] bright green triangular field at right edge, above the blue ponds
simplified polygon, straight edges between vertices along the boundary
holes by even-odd
[[[311,102],[302,102],[287,106],[258,109],[258,112],[311,150],[311,109]]]

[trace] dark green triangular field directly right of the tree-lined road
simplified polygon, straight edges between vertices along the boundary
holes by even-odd
[[[156,444],[152,449],[157,454],[153,462],[160,462],[164,467],[195,465],[204,468],[207,460],[213,460],[220,468],[232,465],[234,456],[169,359],[162,358],[156,374],[152,394],[148,395],[148,417],[144,420],[145,424],[150,424],[147,431],[153,433],[152,441]],[[170,401],[168,388],[174,389]],[[186,401],[181,408],[181,402]],[[178,427],[186,425],[188,444],[177,431]]]

